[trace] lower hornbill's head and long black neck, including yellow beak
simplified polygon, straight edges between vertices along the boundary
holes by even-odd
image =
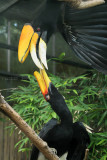
[[[35,71],[34,76],[38,81],[45,100],[50,103],[54,112],[61,118],[62,121],[65,121],[67,116],[67,118],[70,120],[70,123],[72,123],[72,115],[65,103],[64,97],[52,84],[45,72],[45,69],[40,69],[40,73]]]

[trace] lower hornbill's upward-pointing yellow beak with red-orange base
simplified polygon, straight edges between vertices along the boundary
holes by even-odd
[[[49,100],[48,88],[49,84],[51,83],[51,80],[49,79],[45,69],[44,68],[40,69],[40,73],[35,71],[34,76],[38,81],[39,87],[41,89],[44,98],[46,99],[46,101]]]

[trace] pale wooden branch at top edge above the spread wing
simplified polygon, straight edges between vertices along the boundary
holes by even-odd
[[[72,6],[79,9],[94,7],[105,3],[105,0],[59,0],[59,1],[71,2]]]

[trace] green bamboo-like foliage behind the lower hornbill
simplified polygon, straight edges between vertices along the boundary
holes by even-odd
[[[52,117],[58,118],[44,100],[35,78],[28,75],[30,81],[26,87],[19,86],[9,100],[14,102],[14,109],[38,133],[44,123]],[[89,159],[106,160],[107,158],[107,76],[100,73],[81,75],[75,78],[60,78],[50,74],[50,79],[65,97],[73,114],[74,121],[82,121],[90,126],[91,144]],[[25,151],[28,138],[23,135],[19,151]]]

